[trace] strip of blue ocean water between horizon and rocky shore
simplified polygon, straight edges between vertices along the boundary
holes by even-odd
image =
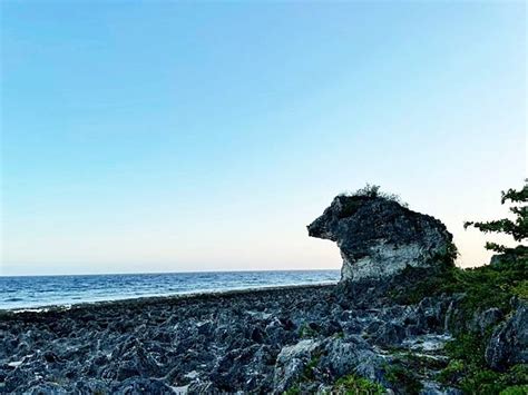
[[[272,286],[330,284],[340,270],[0,277],[0,309]]]

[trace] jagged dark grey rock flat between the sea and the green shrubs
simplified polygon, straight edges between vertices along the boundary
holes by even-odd
[[[353,369],[383,382],[395,346],[442,363],[442,303],[364,308],[339,293],[299,286],[2,313],[0,391],[282,393],[309,374],[316,392]]]

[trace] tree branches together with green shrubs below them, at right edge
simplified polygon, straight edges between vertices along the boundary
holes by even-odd
[[[528,184],[521,190],[509,189],[502,192],[502,204],[508,200],[528,201]],[[516,206],[510,211],[516,215],[515,220],[466,223],[465,226],[472,226],[485,233],[505,233],[515,240],[522,241],[528,237],[528,208],[526,205]],[[446,346],[450,362],[441,369],[438,379],[467,394],[527,394],[528,365],[516,365],[507,372],[490,369],[486,364],[485,352],[492,328],[481,334],[471,332],[470,325],[476,314],[491,307],[499,308],[505,317],[508,316],[512,308],[512,297],[528,300],[528,247],[518,245],[508,248],[488,243],[486,248],[501,254],[492,265],[472,269],[446,266],[438,276],[415,282],[407,289],[394,290],[391,296],[403,304],[415,304],[427,296],[463,295],[450,328],[456,338]],[[407,276],[413,275],[411,268],[407,271]],[[392,374],[392,379],[397,381],[402,374],[401,369],[397,371]]]

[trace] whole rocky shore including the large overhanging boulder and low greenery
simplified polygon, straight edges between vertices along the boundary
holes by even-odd
[[[309,226],[338,285],[0,313],[0,392],[528,393],[527,259],[459,269],[443,224],[377,194]]]

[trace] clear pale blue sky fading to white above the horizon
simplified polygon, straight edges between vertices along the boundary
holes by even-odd
[[[486,264],[527,174],[519,2],[1,2],[0,275],[340,268],[366,182]],[[500,240],[501,238],[499,238]]]

